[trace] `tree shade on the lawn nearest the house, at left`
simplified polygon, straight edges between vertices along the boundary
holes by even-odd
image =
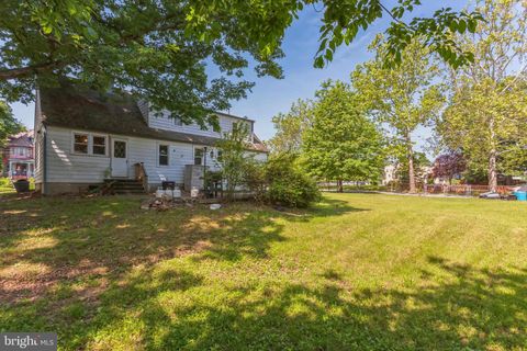
[[[284,222],[359,211],[345,202],[327,201],[294,215],[250,203],[216,212],[181,206],[156,213],[138,210],[138,202],[119,196],[1,202],[0,298],[16,304],[45,298],[58,288],[69,291],[68,298],[97,299],[105,287],[71,292],[60,285],[86,285],[100,279],[111,283],[133,267],[186,254],[232,262],[243,257],[265,259],[270,245],[284,239]]]

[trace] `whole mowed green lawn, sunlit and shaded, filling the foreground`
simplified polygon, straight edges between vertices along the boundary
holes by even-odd
[[[0,330],[60,350],[524,350],[527,204],[0,197]]]

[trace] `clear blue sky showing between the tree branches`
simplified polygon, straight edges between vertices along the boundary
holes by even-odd
[[[429,16],[435,10],[442,7],[451,7],[460,10],[467,3],[466,0],[423,1],[425,4],[415,9],[413,15]],[[393,5],[394,0],[384,1]],[[383,32],[389,23],[389,18],[378,20],[368,31],[359,33],[357,39],[349,46],[340,47],[334,60],[324,69],[313,68],[313,57],[318,48],[318,29],[321,13],[313,7],[306,7],[300,19],[288,30],[283,50],[285,57],[280,61],[284,69],[284,79],[257,78],[254,71],[247,70],[246,79],[255,81],[256,86],[247,99],[234,101],[231,113],[248,116],[257,121],[256,132],[264,138],[269,139],[274,134],[271,117],[279,112],[287,112],[291,104],[298,100],[312,98],[319,84],[327,79],[349,80],[349,73],[357,64],[363,63],[371,57],[368,53],[368,44],[374,35]],[[22,121],[29,128],[33,127],[34,105],[12,104],[16,118]],[[419,128],[415,133],[418,145],[429,137],[429,131]]]

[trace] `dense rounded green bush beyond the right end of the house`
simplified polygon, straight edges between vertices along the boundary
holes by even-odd
[[[294,156],[281,155],[266,166],[267,200],[288,207],[307,207],[321,200],[316,183],[295,163]]]

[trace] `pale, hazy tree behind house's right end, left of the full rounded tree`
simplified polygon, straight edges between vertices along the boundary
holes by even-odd
[[[268,145],[272,152],[300,154],[302,135],[313,120],[313,101],[299,99],[288,113],[279,113],[272,117],[274,136]]]

